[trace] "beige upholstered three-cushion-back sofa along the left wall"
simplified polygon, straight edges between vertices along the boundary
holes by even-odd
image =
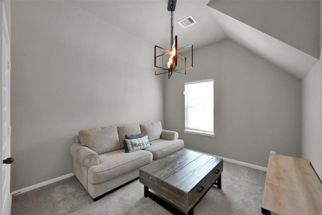
[[[125,134],[143,133],[149,148],[125,153]],[[184,147],[161,122],[108,126],[79,131],[70,146],[73,173],[94,200],[139,176],[139,168]]]

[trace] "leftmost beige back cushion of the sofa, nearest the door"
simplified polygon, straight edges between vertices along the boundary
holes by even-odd
[[[82,146],[86,146],[101,155],[120,149],[116,126],[92,128],[78,132]]]

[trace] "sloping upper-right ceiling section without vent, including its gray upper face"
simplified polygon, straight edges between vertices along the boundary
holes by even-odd
[[[211,1],[228,38],[302,80],[319,59],[320,1]]]

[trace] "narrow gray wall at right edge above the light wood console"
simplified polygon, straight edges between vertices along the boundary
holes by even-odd
[[[322,4],[320,37],[322,41]],[[322,56],[322,47],[321,54]],[[311,162],[322,178],[322,60],[316,63],[302,81],[302,157]]]

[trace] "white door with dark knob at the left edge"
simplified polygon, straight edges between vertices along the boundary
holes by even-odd
[[[2,24],[0,35],[0,117],[1,117],[1,144],[0,144],[0,214],[7,215],[11,211],[10,194],[10,163],[13,159],[11,154],[11,128],[10,128],[10,40],[6,19],[4,2],[0,4],[0,23]],[[7,163],[7,164],[6,164]]]

